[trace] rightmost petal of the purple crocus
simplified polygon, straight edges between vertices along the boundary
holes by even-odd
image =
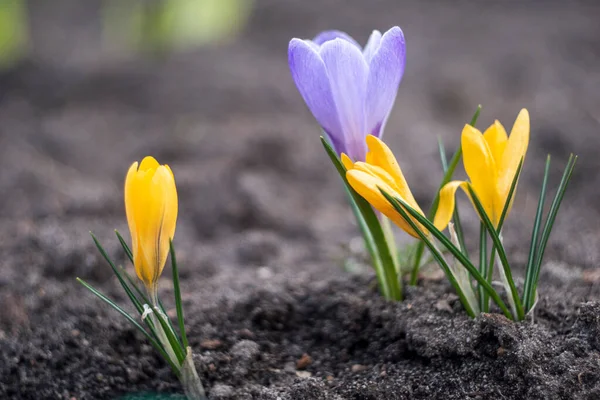
[[[404,35],[395,26],[383,35],[369,64],[365,103],[367,133],[377,137],[383,133],[404,74],[405,56]]]

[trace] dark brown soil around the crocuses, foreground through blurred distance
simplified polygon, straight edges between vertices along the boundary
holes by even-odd
[[[177,178],[188,336],[211,399],[600,398],[595,2],[264,0],[236,40],[160,61],[103,53],[95,2],[31,3],[32,56],[0,76],[0,398],[181,398],[143,338],[75,282],[126,304],[88,231],[124,262],[122,182],[146,154]],[[386,141],[423,206],[437,135],[454,148],[478,103],[479,126],[532,115],[504,233],[517,276],[545,155],[552,188],[581,157],[534,321],[471,320],[435,273],[386,303],[368,268],[344,269],[361,260],[358,231],[287,41],[335,27],[364,42],[396,24],[408,61]],[[164,299],[169,286],[165,274]]]

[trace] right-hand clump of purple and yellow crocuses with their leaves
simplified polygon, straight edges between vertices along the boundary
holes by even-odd
[[[512,207],[529,145],[528,111],[521,110],[507,135],[499,121],[483,133],[477,130],[478,108],[471,123],[465,125],[461,146],[449,164],[440,143],[444,177],[426,215],[415,201],[392,151],[381,140],[404,72],[405,41],[400,28],[394,27],[383,35],[374,31],[364,49],[339,31],[321,33],[312,41],[292,39],[288,59],[296,86],[325,133],[323,145],[346,184],[382,294],[400,300],[403,273],[408,272],[406,265],[400,265],[395,251],[387,225],[392,221],[420,240],[411,254],[412,284],[417,282],[426,247],[469,315],[488,312],[492,300],[506,317],[525,318],[535,307],[544,251],[576,157],[570,157],[543,222],[548,157],[525,283],[519,294],[503,246],[502,226]],[[469,180],[450,181],[461,158]],[[468,256],[455,205],[458,188],[466,193],[481,221],[478,266]],[[449,237],[443,233],[446,228]],[[453,260],[447,259],[448,253]],[[492,285],[495,269],[509,306]]]

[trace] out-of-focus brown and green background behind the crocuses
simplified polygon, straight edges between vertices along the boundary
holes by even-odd
[[[505,227],[517,265],[546,154],[551,190],[579,154],[542,280],[600,281],[599,20],[593,0],[1,0],[0,338],[68,335],[98,309],[75,276],[120,298],[88,231],[119,254],[125,172],[145,155],[177,180],[186,309],[343,276],[348,254],[361,257],[358,231],[287,65],[292,37],[326,29],[363,44],[403,29],[385,140],[424,208],[442,176],[438,136],[453,152],[478,104],[482,129],[529,109]],[[472,210],[462,216],[475,232]]]

